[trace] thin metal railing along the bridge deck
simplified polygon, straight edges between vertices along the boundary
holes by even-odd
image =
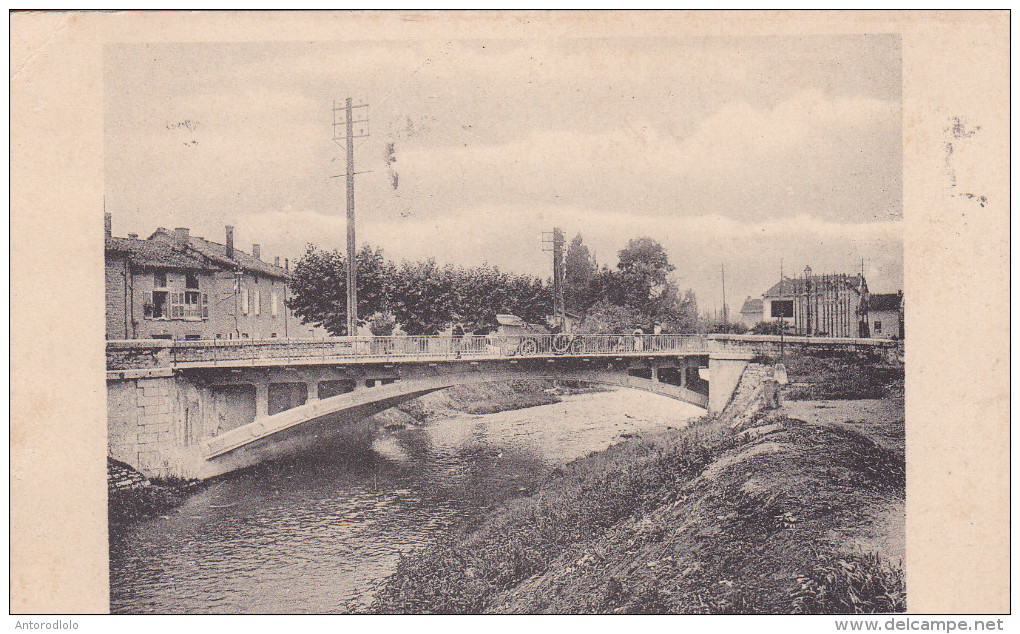
[[[697,334],[509,334],[333,337],[326,339],[214,339],[167,342],[173,364],[272,359],[457,359],[550,355],[609,356],[640,353],[708,353]]]

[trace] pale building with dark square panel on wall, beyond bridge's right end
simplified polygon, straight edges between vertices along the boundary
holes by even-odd
[[[785,315],[794,334],[868,337],[868,283],[864,275],[783,277],[762,298],[763,319]]]

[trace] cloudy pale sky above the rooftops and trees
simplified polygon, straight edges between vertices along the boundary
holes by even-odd
[[[903,283],[898,36],[110,45],[116,235],[187,226],[263,259],[346,249],[334,102],[367,103],[357,240],[549,277],[543,231],[615,266],[659,241],[702,310],[779,279]],[[392,147],[392,155],[390,149]]]

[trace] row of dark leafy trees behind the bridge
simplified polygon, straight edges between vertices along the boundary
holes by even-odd
[[[675,267],[659,243],[631,240],[615,269],[595,262],[580,234],[564,258],[567,311],[579,316],[582,332],[625,332],[658,324],[665,332],[692,332],[697,300],[669,279]],[[379,248],[357,253],[358,315],[373,334],[390,334],[396,324],[408,334],[437,334],[452,323],[468,331],[492,327],[497,314],[544,323],[553,312],[549,280],[497,266],[439,265],[435,259],[388,260]],[[337,250],[309,245],[297,262],[288,306],[305,323],[334,335],[347,334],[347,260]]]

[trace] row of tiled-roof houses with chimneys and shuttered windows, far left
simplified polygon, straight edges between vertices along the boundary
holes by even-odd
[[[156,229],[148,239],[114,237],[106,215],[107,339],[260,339],[321,337],[287,307],[289,263],[234,246]]]

